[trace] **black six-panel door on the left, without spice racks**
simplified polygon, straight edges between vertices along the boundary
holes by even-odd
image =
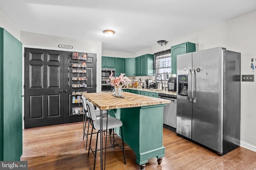
[[[25,128],[64,123],[64,51],[25,48],[24,57]]]

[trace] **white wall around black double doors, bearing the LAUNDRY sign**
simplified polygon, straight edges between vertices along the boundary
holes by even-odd
[[[61,51],[78,51],[86,53],[96,53],[97,54],[97,92],[101,91],[101,51],[102,43],[97,41],[86,41],[82,39],[73,39],[66,37],[58,37],[53,35],[44,35],[31,32],[20,32],[20,39],[24,47],[34,47],[40,49],[52,49]],[[73,49],[62,49],[58,48],[59,44],[72,45]]]

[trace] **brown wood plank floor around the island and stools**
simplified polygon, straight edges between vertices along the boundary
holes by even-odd
[[[23,130],[23,155],[29,170],[92,170],[94,158],[85,140],[82,140],[83,123],[66,123]],[[146,170],[256,170],[256,152],[239,147],[224,156],[210,152],[190,141],[178,137],[168,129],[163,130],[165,156],[162,164],[152,158]],[[93,135],[92,146],[95,146]],[[109,143],[109,141],[107,141]],[[139,170],[136,155],[126,145],[126,165],[122,150],[107,149],[106,170]],[[96,169],[100,168],[97,154]]]

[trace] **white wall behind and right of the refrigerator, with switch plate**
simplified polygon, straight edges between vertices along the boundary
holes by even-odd
[[[166,37],[168,41],[168,37]],[[256,76],[250,68],[251,59],[256,64],[256,10],[237,16],[222,23],[195,31],[183,37],[168,41],[167,45],[156,45],[139,51],[135,56],[156,53],[169,49],[172,45],[196,43],[196,51],[213,47],[225,47],[241,53],[241,73],[254,74],[254,82],[241,82],[241,146],[256,151]]]

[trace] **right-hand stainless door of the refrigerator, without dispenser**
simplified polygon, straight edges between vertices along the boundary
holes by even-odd
[[[222,152],[222,48],[192,53],[192,140]]]

